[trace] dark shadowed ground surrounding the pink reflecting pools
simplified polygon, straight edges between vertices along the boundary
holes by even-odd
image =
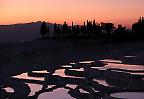
[[[112,98],[110,94],[126,91],[144,91],[144,75],[131,74],[143,73],[144,70],[92,69],[92,67],[104,67],[106,63],[100,60],[105,59],[120,60],[123,64],[128,65],[144,65],[144,42],[100,44],[93,40],[42,40],[1,43],[0,97],[1,99],[37,99],[41,93],[50,92],[59,87],[69,89],[68,94],[77,99],[85,99],[84,97],[86,99],[116,99]],[[80,61],[93,62],[83,64],[79,63]],[[62,67],[62,65],[70,65],[70,63],[75,64],[71,68]],[[84,71],[71,70],[78,68],[83,68]],[[52,74],[57,69],[65,69],[66,75],[82,77],[82,79],[53,76]],[[36,70],[47,70],[48,73],[32,72]],[[44,77],[45,80],[12,78],[12,76],[26,72],[29,76]],[[93,79],[103,79],[114,87],[101,85],[93,81]],[[28,96],[30,87],[25,83],[42,84],[43,89],[30,97]],[[76,84],[78,87],[73,89],[66,86],[67,84]],[[55,87],[47,88],[48,85],[55,85]],[[6,92],[4,89],[6,87],[12,87],[14,93]],[[20,91],[20,88],[23,91]],[[89,94],[80,93],[80,88],[89,92]]]

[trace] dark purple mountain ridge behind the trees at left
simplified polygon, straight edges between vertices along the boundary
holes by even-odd
[[[0,25],[0,42],[27,41],[41,37],[40,26],[42,22],[19,23]],[[47,23],[53,32],[53,23]]]

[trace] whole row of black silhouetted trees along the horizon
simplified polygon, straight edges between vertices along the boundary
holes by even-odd
[[[50,37],[50,29],[43,21],[40,33],[43,38]],[[53,38],[103,38],[106,41],[125,41],[125,40],[144,40],[144,17],[140,17],[137,22],[132,24],[132,29],[125,26],[114,26],[113,23],[96,23],[95,20],[84,22],[83,25],[68,26],[67,22],[63,25],[54,24]]]

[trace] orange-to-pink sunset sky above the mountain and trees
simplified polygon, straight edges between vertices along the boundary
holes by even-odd
[[[0,24],[96,19],[130,26],[144,16],[144,0],[0,0]]]

